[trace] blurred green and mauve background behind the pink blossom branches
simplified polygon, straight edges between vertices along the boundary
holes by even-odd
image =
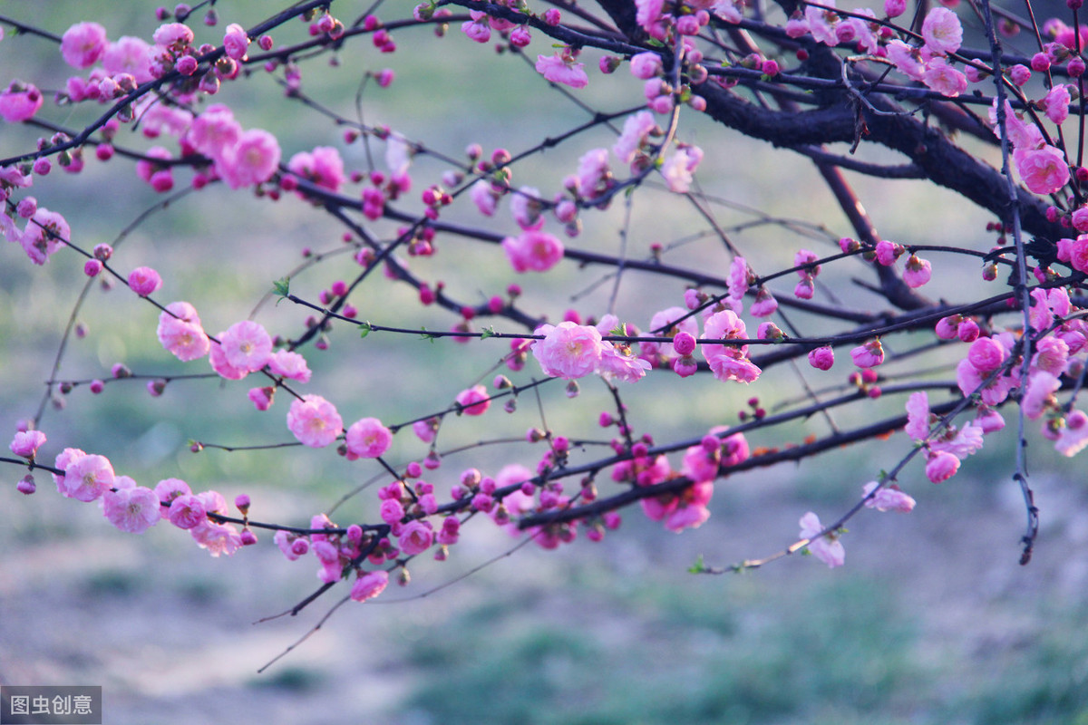
[[[345,22],[366,10],[356,2],[334,7]],[[198,40],[218,42],[226,23],[250,26],[269,14],[270,4],[220,2],[218,11],[220,26],[198,27]],[[386,3],[380,15],[393,18],[409,11],[410,3]],[[33,21],[58,35],[88,17],[102,22],[111,38],[149,38],[157,26],[153,7],[139,3],[9,1],[0,2],[0,14]],[[275,37],[282,46],[305,35],[305,25],[296,22]],[[391,88],[364,87],[363,121],[390,124],[457,160],[469,142],[519,151],[591,117],[592,109],[549,90],[524,58],[496,57],[491,46],[469,41],[456,26],[448,36],[438,40],[428,30],[395,33],[399,50],[392,55],[379,53],[364,39],[349,43],[335,64],[329,55],[302,64],[304,90],[355,118],[362,74],[392,67],[397,80]],[[549,49],[536,38],[529,51],[534,58]],[[606,111],[638,104],[638,83],[622,70],[601,76],[596,59],[586,53],[591,86],[579,99]],[[0,41],[0,68],[4,82],[22,77],[49,90],[62,87],[66,76],[53,45],[11,33]],[[221,91],[245,127],[273,132],[285,159],[327,145],[341,149],[349,167],[366,168],[361,145],[345,145],[335,123],[285,100],[275,75],[257,68],[254,74]],[[79,127],[96,111],[48,107],[42,115]],[[849,234],[803,159],[688,112],[683,123],[681,138],[706,152],[701,190],[757,271],[788,265],[799,247],[827,251],[832,239]],[[39,133],[5,126],[0,155],[29,148]],[[529,158],[514,180],[551,193],[581,153],[610,145],[613,138],[607,128],[595,128]],[[120,141],[133,148],[154,142],[124,134]],[[992,150],[976,148],[997,162]],[[380,143],[373,153],[381,166]],[[894,160],[865,145],[858,155]],[[119,268],[149,264],[162,271],[166,282],[160,299],[189,300],[209,332],[261,305],[271,282],[304,263],[305,248],[329,253],[321,264],[293,276],[293,291],[308,299],[357,270],[339,239],[343,229],[295,199],[272,203],[210,188],[156,209],[126,232],[161,201],[126,163],[88,159],[83,174],[54,171],[34,193],[39,203],[67,216],[74,238],[85,248],[114,243]],[[449,166],[418,158],[416,187],[404,207],[418,211],[417,192]],[[979,249],[993,243],[984,232],[988,216],[951,195],[915,182],[852,178],[886,238]],[[187,177],[180,174],[178,180],[181,188]],[[627,212],[616,203],[605,213],[586,215],[582,236],[571,243],[615,253]],[[645,257],[650,245],[659,242],[670,248],[669,262],[725,274],[728,254],[706,238],[705,223],[687,202],[647,188],[635,195],[630,213],[627,241],[633,257]],[[446,218],[480,222],[470,209],[456,207]],[[392,226],[382,228],[393,234]],[[491,228],[514,232],[508,217],[496,218]],[[452,293],[469,302],[518,282],[526,288],[524,309],[557,320],[568,308],[601,314],[611,295],[607,270],[560,265],[539,278],[518,277],[494,248],[441,237],[437,245],[435,258],[412,260],[412,268],[445,280]],[[15,420],[33,415],[41,399],[85,278],[73,254],[58,254],[45,268],[33,267],[14,246],[2,254],[0,410],[13,429]],[[976,267],[939,262],[951,264],[934,260],[938,273],[927,288],[934,298],[962,300],[986,289]],[[850,282],[865,274],[858,265],[829,270],[821,278],[844,303],[880,309],[878,298],[866,297]],[[678,304],[682,290],[679,282],[629,274],[619,288],[617,310],[644,325],[654,311]],[[421,309],[415,299],[403,286],[375,284],[353,301],[361,316],[375,323],[443,328],[456,322]],[[255,314],[284,335],[297,334],[306,317],[304,310],[273,308],[267,301]],[[87,335],[69,341],[58,377],[107,377],[115,362],[138,374],[194,372],[159,347],[156,317],[154,310],[124,290],[107,292],[91,285],[76,313]],[[795,322],[807,330],[821,329],[818,320],[799,316]],[[345,420],[375,415],[397,422],[432,412],[477,378],[490,378],[502,355],[498,348],[481,357],[452,343],[379,334],[360,340],[342,328],[333,330],[330,345],[326,353],[308,352],[314,382],[307,391],[335,399]],[[917,360],[893,361],[886,371],[914,373]],[[931,375],[949,378],[949,370],[939,365],[951,360],[938,357]],[[836,386],[846,373],[840,363],[828,374],[833,382],[803,374],[817,386]],[[780,391],[795,388],[798,374],[769,372],[757,391],[763,404],[771,408],[786,400]],[[63,410],[48,405],[42,427],[49,454],[77,446],[108,454],[119,472],[140,483],[177,476],[228,499],[246,492],[255,501],[252,516],[262,521],[305,524],[311,514],[335,505],[337,522],[376,517],[372,493],[337,502],[380,471],[348,464],[331,451],[189,452],[190,439],[226,446],[289,441],[282,400],[271,414],[260,414],[245,399],[249,386],[244,383],[175,380],[157,399],[143,385],[110,384],[97,397],[81,385],[64,397]],[[582,420],[585,410],[609,408],[603,389],[585,384],[582,396],[567,403],[561,389],[552,388],[545,387],[539,405],[523,397],[516,413],[493,410],[472,426],[447,426],[444,447],[509,437],[511,432],[520,438],[528,427],[541,425],[542,412],[557,433],[590,441],[606,438],[592,421]],[[636,429],[671,440],[734,422],[754,391],[720,384],[685,388],[656,375],[640,383],[628,401]],[[897,398],[882,410],[901,405]],[[840,422],[867,414],[844,412]],[[800,440],[823,432],[820,425],[796,424],[779,435]],[[397,437],[392,460],[404,463],[422,454],[407,438]],[[59,499],[48,477],[39,476],[37,495],[23,497],[9,489],[0,505],[0,682],[100,684],[103,722],[134,724],[651,724],[682,718],[776,725],[1084,725],[1088,490],[1079,462],[1055,460],[1044,441],[1034,435],[1030,440],[1042,527],[1026,567],[1016,563],[1024,511],[1011,479],[1015,437],[1006,430],[988,438],[986,449],[941,486],[925,482],[920,465],[910,467],[900,483],[917,499],[915,512],[865,512],[854,518],[843,539],[848,564],[841,570],[795,557],[744,575],[688,573],[700,555],[708,564],[727,565],[781,549],[794,540],[795,522],[805,511],[832,520],[856,500],[862,484],[908,450],[898,434],[894,446],[858,447],[801,466],[721,482],[710,521],[679,536],[632,510],[625,512],[621,529],[602,543],[583,536],[544,552],[533,545],[518,548],[518,539],[481,525],[486,522],[472,522],[450,561],[419,562],[411,567],[410,586],[392,587],[372,604],[339,609],[260,674],[258,668],[302,637],[342,596],[319,600],[297,617],[257,623],[288,610],[317,587],[312,560],[286,562],[269,536],[232,558],[210,559],[169,526],[125,535],[94,505]],[[781,442],[753,436],[753,445]],[[586,450],[590,455],[594,447]],[[494,473],[489,466],[510,460],[532,466],[541,453],[524,442],[475,448],[446,457],[429,479],[448,491],[465,466]],[[7,477],[14,483],[18,475],[10,467]],[[452,584],[432,593],[446,583]]]

